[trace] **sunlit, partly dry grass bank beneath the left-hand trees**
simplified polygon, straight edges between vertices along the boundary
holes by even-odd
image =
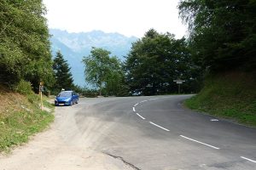
[[[18,94],[3,87],[0,92],[5,104],[0,106],[0,152],[8,153],[15,145],[26,143],[32,134],[42,132],[54,121],[54,115],[40,110],[37,94]]]

